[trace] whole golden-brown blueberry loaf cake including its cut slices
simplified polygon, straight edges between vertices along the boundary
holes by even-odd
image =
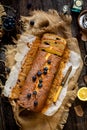
[[[20,106],[36,112],[42,110],[58,71],[62,58],[60,56],[63,55],[65,47],[65,39],[54,34],[43,36],[38,54],[33,61],[19,96],[18,104]],[[48,61],[51,61],[51,63],[49,64]]]

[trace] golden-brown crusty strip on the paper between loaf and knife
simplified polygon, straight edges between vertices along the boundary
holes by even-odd
[[[68,48],[66,48],[64,55],[63,55],[63,58],[61,60],[61,63],[59,65],[58,72],[56,73],[55,79],[54,79],[52,87],[50,89],[47,101],[46,101],[44,108],[42,110],[42,113],[45,112],[50,107],[50,105],[54,102],[56,92],[58,91],[58,89],[61,85],[61,82],[64,78],[62,71],[65,68],[67,61],[69,60],[69,54],[70,54],[70,50]]]

